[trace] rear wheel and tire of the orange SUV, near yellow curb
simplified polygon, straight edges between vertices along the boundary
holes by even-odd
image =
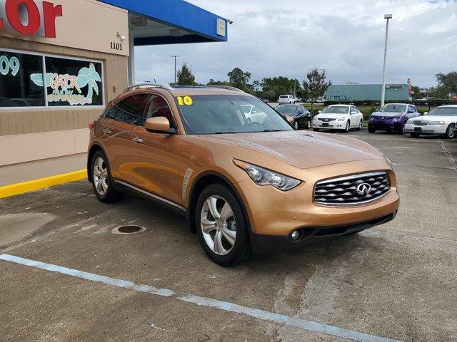
[[[111,169],[106,155],[101,150],[95,152],[91,162],[92,188],[100,202],[113,203],[124,197],[124,192],[116,190],[111,178]]]

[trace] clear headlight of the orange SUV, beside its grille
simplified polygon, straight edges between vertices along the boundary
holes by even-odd
[[[271,185],[276,187],[278,190],[287,191],[293,189],[301,183],[300,180],[296,180],[295,178],[287,177],[285,175],[281,175],[281,173],[266,170],[263,169],[263,167],[251,165],[247,162],[241,162],[240,160],[233,160],[233,162],[236,166],[245,170],[256,185],[261,185],[262,187]]]

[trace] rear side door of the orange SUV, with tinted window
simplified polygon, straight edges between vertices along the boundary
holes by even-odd
[[[115,105],[101,121],[101,144],[109,160],[112,177],[131,180],[131,138],[141,123],[148,95],[138,94]]]

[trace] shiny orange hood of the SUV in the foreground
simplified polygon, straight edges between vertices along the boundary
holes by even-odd
[[[200,138],[246,148],[301,169],[341,162],[384,159],[381,152],[366,142],[326,133],[303,131],[236,133],[200,135]],[[245,161],[256,162],[256,160]]]

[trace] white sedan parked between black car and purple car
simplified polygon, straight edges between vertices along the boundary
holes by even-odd
[[[313,118],[313,130],[361,130],[363,115],[355,105],[329,105]]]

